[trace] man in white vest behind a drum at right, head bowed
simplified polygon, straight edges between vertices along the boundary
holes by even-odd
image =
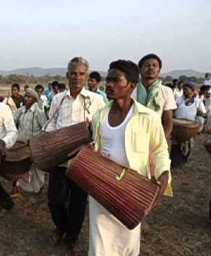
[[[192,82],[184,83],[183,96],[178,98],[177,109],[174,112],[174,118],[182,118],[191,121],[197,121],[197,115],[207,117],[203,100],[195,97],[197,85]],[[193,139],[189,139],[182,144],[172,139],[171,160],[172,167],[182,167],[186,163],[193,147]]]

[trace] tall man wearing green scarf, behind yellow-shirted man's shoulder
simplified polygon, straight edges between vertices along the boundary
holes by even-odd
[[[168,138],[173,127],[173,110],[177,105],[172,89],[162,85],[159,79],[162,61],[156,54],[148,54],[140,59],[138,65],[141,80],[133,92],[133,97],[160,115],[165,136]]]

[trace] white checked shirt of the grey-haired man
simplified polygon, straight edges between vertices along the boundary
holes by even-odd
[[[60,92],[52,100],[46,131],[81,123],[87,118],[91,121],[96,110],[101,109],[104,105],[101,95],[86,91],[85,88],[75,99],[69,90]]]

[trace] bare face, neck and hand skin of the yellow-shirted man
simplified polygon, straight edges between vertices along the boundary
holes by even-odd
[[[118,126],[124,121],[133,104],[131,93],[135,86],[135,83],[127,81],[123,72],[116,69],[109,70],[106,78],[106,93],[113,100],[112,107],[109,111],[110,126]],[[168,185],[168,178],[168,171],[164,171],[156,181],[160,184],[161,189],[154,206],[162,199],[163,192]]]

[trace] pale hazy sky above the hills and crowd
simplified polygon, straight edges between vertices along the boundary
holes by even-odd
[[[2,3],[3,2],[3,3]],[[0,69],[92,69],[157,53],[163,72],[211,70],[211,0],[7,0],[0,6]]]

